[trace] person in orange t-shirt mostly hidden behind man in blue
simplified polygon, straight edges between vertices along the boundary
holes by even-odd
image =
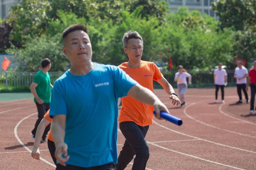
[[[45,113],[44,118],[39,123],[39,125],[36,129],[35,142],[34,142],[34,146],[32,148],[31,156],[37,160],[40,160],[39,144],[40,144],[42,136],[44,134],[44,129],[52,122],[52,118],[50,118],[49,112],[50,112],[50,109]],[[48,149],[51,154],[52,160],[53,160],[54,164],[57,165],[56,158],[54,157],[55,145],[54,145],[54,141],[52,139],[51,130],[49,131],[49,134],[48,134],[47,145],[48,145]]]

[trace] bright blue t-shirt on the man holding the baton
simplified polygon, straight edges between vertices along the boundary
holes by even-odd
[[[66,115],[66,164],[91,167],[117,163],[118,98],[137,84],[122,69],[94,63],[84,76],[66,71],[52,88],[50,117]]]

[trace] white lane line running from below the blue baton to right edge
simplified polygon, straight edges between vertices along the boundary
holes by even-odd
[[[200,137],[195,137],[195,136],[192,136],[192,135],[188,135],[188,134],[185,134],[185,133],[182,133],[182,132],[179,132],[179,131],[176,131],[176,130],[173,130],[173,129],[170,129],[170,128],[167,128],[157,122],[155,122],[153,120],[153,123],[155,123],[156,125],[164,128],[164,129],[167,129],[167,130],[170,130],[172,132],[175,132],[175,133],[178,133],[180,135],[184,135],[184,136],[187,136],[187,137],[192,137],[192,138],[195,138],[195,139],[200,139],[204,142],[209,142],[209,143],[212,143],[212,144],[216,144],[216,145],[220,145],[220,146],[224,146],[224,147],[228,147],[228,148],[232,148],[232,149],[236,149],[236,150],[240,150],[240,151],[245,151],[245,152],[250,152],[250,153],[256,153],[256,152],[253,152],[253,151],[249,151],[249,150],[245,150],[245,149],[241,149],[241,148],[236,148],[236,147],[233,147],[233,146],[229,146],[229,145],[225,145],[225,144],[220,144],[220,143],[217,143],[217,142],[213,142],[213,141],[210,141],[210,140],[206,140],[206,139],[203,139],[203,138],[200,138]]]

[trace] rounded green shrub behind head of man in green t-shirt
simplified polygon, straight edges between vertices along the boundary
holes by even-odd
[[[13,55],[13,63],[18,71],[38,71],[41,60],[49,58],[52,63],[51,71],[63,71],[69,68],[69,62],[62,52],[62,43],[59,37],[41,36],[37,38],[26,37],[27,43],[23,48],[7,49],[7,53]]]

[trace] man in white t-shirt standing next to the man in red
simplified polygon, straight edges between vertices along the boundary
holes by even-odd
[[[245,90],[247,82],[246,78],[248,77],[248,70],[243,66],[243,62],[240,60],[236,62],[236,65],[237,67],[235,69],[234,78],[236,78],[236,87],[239,96],[239,101],[236,102],[236,104],[243,103],[241,91],[242,89],[245,95],[246,103],[249,103],[248,94]]]

